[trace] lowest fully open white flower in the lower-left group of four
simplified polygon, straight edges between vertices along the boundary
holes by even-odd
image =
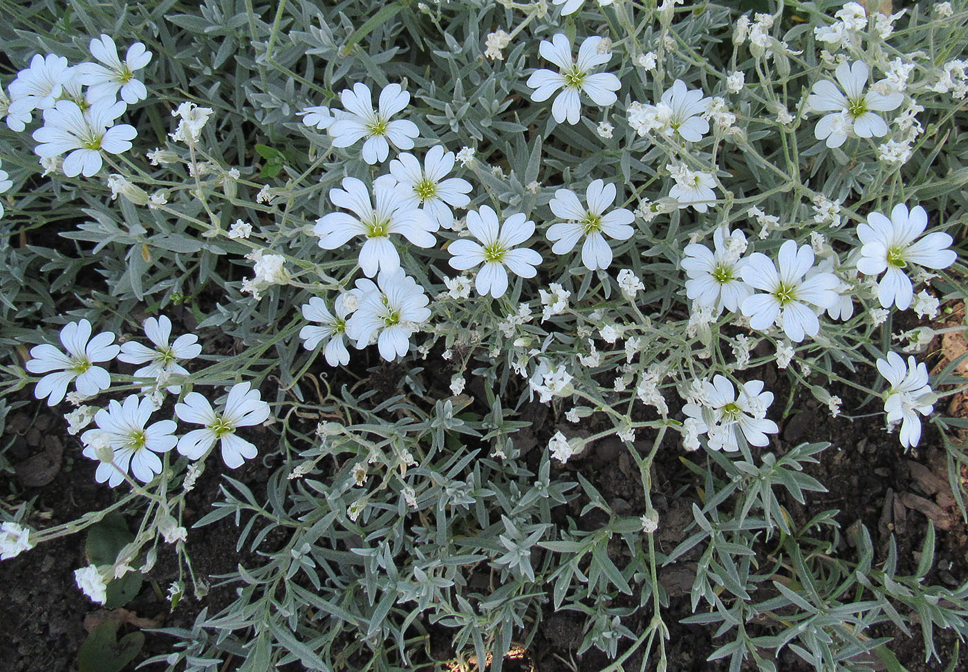
[[[174,420],[159,420],[145,427],[154,405],[144,397],[138,401],[137,395],[129,395],[124,404],[111,399],[107,410],[101,409],[94,415],[99,429],[89,429],[80,435],[85,443],[83,454],[91,459],[100,459],[98,446],[106,444],[114,455],[111,462],[101,462],[94,474],[99,483],[115,487],[124,480],[124,474],[131,473],[147,483],[162,473],[162,461],[155,453],[167,452],[175,447],[178,438],[173,436],[178,425]]]

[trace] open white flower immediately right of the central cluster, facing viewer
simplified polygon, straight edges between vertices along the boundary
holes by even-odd
[[[582,244],[582,263],[589,270],[608,268],[612,263],[612,248],[605,235],[616,240],[627,240],[635,232],[628,226],[635,221],[631,210],[616,208],[606,213],[615,201],[616,187],[603,180],[593,180],[585,191],[588,207],[570,189],[559,189],[550,205],[556,217],[564,220],[548,229],[548,240],[555,243],[552,252],[563,255],[571,252],[575,244]],[[604,234],[604,235],[603,235]]]

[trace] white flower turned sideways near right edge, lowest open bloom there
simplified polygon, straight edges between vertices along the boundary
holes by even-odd
[[[909,356],[907,365],[896,352],[888,352],[887,359],[877,360],[877,370],[891,383],[884,399],[888,422],[901,422],[901,445],[911,448],[921,441],[921,418],[934,411],[930,385],[927,384],[927,366]]]

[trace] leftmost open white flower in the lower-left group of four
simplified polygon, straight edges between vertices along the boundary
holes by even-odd
[[[60,332],[61,343],[68,351],[64,354],[48,343],[35,346],[33,357],[27,362],[32,374],[47,374],[34,388],[34,396],[47,398],[47,406],[59,404],[67,393],[67,385],[74,381],[76,390],[85,397],[93,397],[111,385],[111,377],[95,362],[106,362],[121,350],[114,342],[114,334],[105,331],[91,338],[91,322],[86,320],[68,322]],[[49,373],[55,372],[55,373]]]

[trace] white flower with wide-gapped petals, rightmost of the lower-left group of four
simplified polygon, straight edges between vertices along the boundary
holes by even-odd
[[[228,390],[226,406],[221,411],[213,410],[208,400],[197,392],[189,392],[185,403],[175,404],[175,414],[182,422],[204,425],[203,429],[194,429],[178,440],[178,452],[197,460],[220,441],[222,460],[229,469],[236,469],[246,459],[256,457],[258,451],[255,445],[237,436],[235,430],[264,422],[270,411],[251,383],[238,382]]]

